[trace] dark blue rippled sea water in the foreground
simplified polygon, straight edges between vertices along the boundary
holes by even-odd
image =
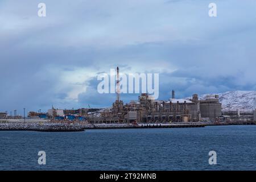
[[[208,163],[211,150],[217,165]],[[1,170],[255,170],[256,126],[0,131],[0,154]]]

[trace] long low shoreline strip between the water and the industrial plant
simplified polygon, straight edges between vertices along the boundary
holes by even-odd
[[[228,126],[228,125],[256,125],[255,122],[232,122],[232,123],[138,123],[129,124],[80,124],[80,123],[0,123],[0,131],[40,131],[40,132],[77,132],[99,129],[166,129],[188,128],[205,126]]]

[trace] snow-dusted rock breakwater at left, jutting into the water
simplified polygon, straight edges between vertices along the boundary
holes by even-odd
[[[0,123],[0,131],[69,132],[84,131],[84,128],[80,125],[67,125],[62,123]]]

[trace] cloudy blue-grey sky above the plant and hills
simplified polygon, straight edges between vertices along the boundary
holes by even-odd
[[[1,0],[0,111],[110,106],[97,75],[117,66],[159,73],[160,100],[255,90],[255,12],[255,0]]]

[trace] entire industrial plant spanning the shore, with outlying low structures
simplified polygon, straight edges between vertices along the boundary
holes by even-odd
[[[189,99],[175,98],[172,90],[171,98],[167,101],[155,100],[153,96],[142,93],[137,101],[124,104],[120,97],[119,68],[117,67],[116,100],[112,107],[105,109],[56,109],[52,106],[47,113],[30,111],[28,118],[48,119],[51,121],[79,121],[92,124],[100,123],[188,123],[201,121],[228,121],[243,118],[256,121],[256,110],[253,113],[240,111],[222,111],[218,95],[208,95],[200,100],[197,94]],[[25,114],[24,114],[25,115]],[[25,116],[23,116],[25,118]],[[7,111],[0,113],[0,118],[21,119],[20,115],[8,115]]]

